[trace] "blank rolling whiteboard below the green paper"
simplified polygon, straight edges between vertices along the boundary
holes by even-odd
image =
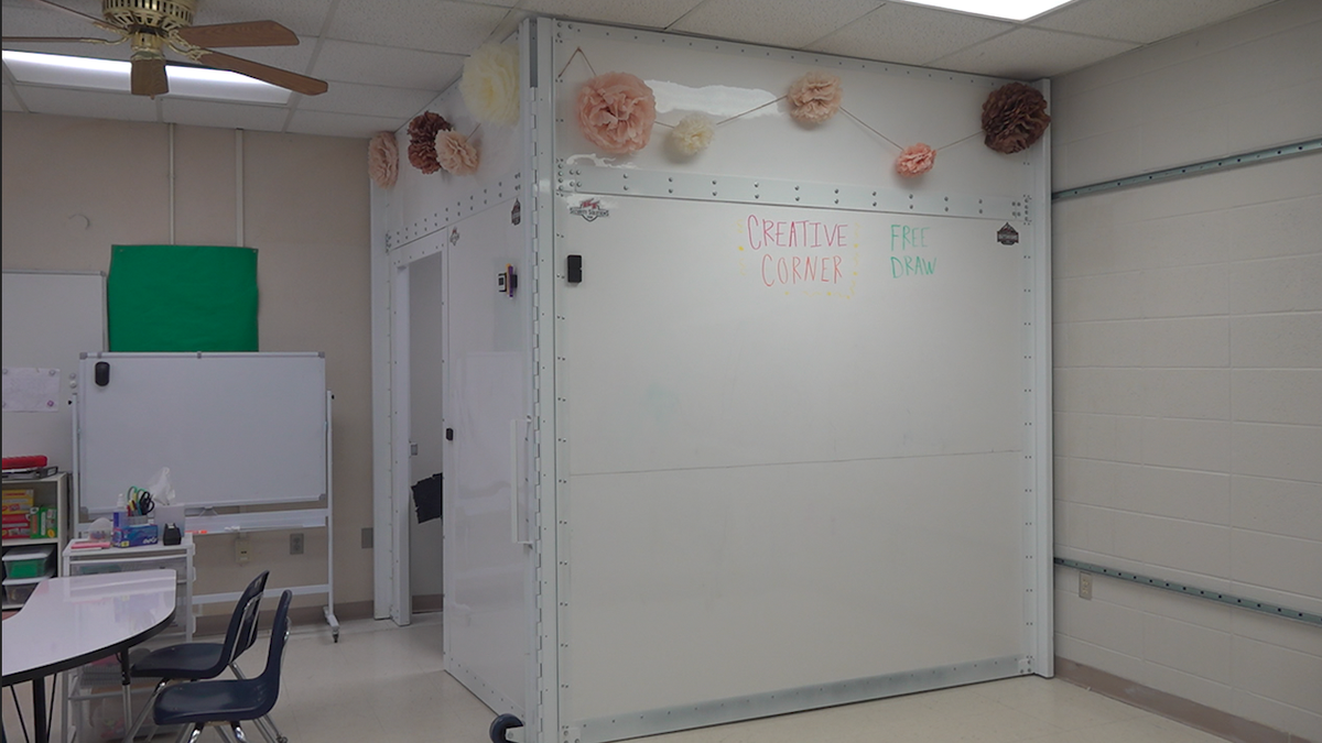
[[[104,361],[108,383],[95,383]],[[123,353],[82,360],[79,505],[169,467],[180,501],[315,501],[327,492],[325,358],[316,353]]]

